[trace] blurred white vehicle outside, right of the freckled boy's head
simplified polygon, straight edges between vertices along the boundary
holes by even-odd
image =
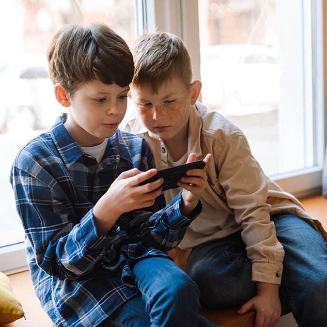
[[[252,45],[201,48],[202,102],[231,115],[277,109],[280,67],[274,49]]]

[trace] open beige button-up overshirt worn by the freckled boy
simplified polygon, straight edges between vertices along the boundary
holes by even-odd
[[[147,141],[157,169],[167,168],[167,151],[162,140],[148,132],[138,118],[129,120],[124,128]],[[191,107],[189,116],[188,154],[192,152],[198,159],[208,153],[213,155],[202,198],[218,209],[218,215],[210,221],[201,219],[201,215],[196,218],[187,229],[182,249],[242,230],[252,262],[252,280],[280,284],[284,250],[270,215],[290,213],[305,218],[327,240],[320,222],[311,218],[293,195],[265,175],[252,156],[243,132],[200,102]],[[174,259],[183,266],[189,250],[182,249],[178,249]]]

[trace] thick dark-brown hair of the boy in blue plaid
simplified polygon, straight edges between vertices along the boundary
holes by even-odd
[[[47,50],[50,78],[73,94],[93,79],[121,87],[134,74],[133,55],[126,42],[107,25],[63,25]]]

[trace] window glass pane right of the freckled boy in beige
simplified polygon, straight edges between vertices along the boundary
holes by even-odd
[[[202,102],[243,130],[268,175],[313,162],[310,10],[301,2],[199,0]]]

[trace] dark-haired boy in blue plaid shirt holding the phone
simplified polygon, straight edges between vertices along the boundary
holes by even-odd
[[[145,141],[117,129],[134,73],[125,41],[104,24],[66,25],[47,59],[68,114],[20,150],[10,175],[43,309],[56,326],[213,326],[166,253],[202,210],[210,155],[165,206],[162,179],[139,185],[156,174]]]

